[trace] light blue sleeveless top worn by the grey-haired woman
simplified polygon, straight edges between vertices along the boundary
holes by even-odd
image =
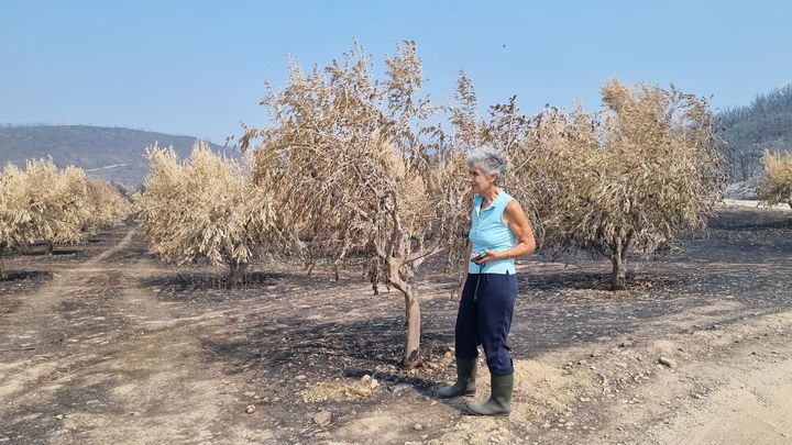
[[[503,221],[503,212],[506,209],[506,204],[509,203],[512,198],[503,189],[498,192],[486,209],[482,209],[484,197],[476,194],[473,198],[473,212],[471,214],[471,231],[469,238],[473,246],[471,252],[471,258],[477,253],[484,252],[488,248],[493,252],[501,252],[509,249],[517,245],[517,240],[512,233],[512,230]],[[481,213],[481,216],[480,216]],[[512,274],[515,271],[515,260],[509,259],[497,259],[487,262],[484,267],[479,266],[475,263],[470,263],[468,258],[468,271],[470,274]]]

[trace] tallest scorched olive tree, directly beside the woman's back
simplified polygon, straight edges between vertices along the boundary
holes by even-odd
[[[463,154],[430,124],[437,110],[419,98],[421,64],[413,42],[386,59],[376,80],[356,47],[323,69],[292,65],[288,85],[262,101],[273,124],[248,127],[257,179],[278,188],[288,226],[312,257],[364,254],[369,276],[405,301],[404,365],[420,361],[416,274],[460,240],[466,208]],[[255,144],[255,145],[253,145]]]

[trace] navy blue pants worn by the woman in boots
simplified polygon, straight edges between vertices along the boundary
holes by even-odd
[[[507,337],[516,300],[516,275],[469,274],[457,313],[457,357],[476,358],[479,345],[483,345],[493,376],[514,372]]]

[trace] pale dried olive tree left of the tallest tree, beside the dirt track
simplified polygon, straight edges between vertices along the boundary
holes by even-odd
[[[177,264],[208,258],[226,265],[230,283],[241,283],[253,254],[275,227],[268,191],[254,186],[251,168],[202,142],[183,163],[172,148],[156,145],[146,157],[152,171],[135,197],[135,210],[148,245]]]

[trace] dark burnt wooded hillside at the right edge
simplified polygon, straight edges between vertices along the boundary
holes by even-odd
[[[730,179],[749,179],[761,171],[765,149],[792,149],[792,84],[757,96],[750,105],[726,110],[719,118]]]

